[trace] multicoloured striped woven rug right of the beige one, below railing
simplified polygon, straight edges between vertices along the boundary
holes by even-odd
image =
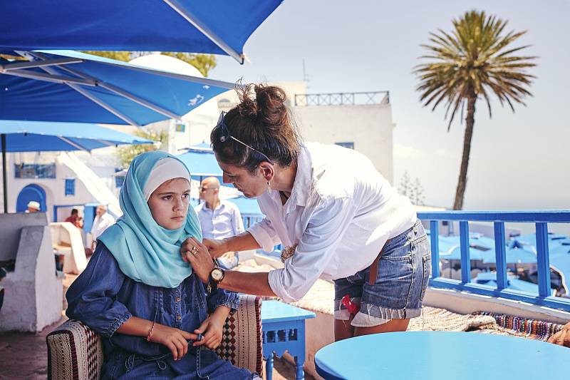
[[[546,342],[563,327],[562,324],[544,322],[537,319],[516,317],[514,315],[507,314],[475,312],[473,315],[479,317],[492,317],[495,321],[494,324],[481,326],[477,332],[484,334],[511,335],[514,337],[537,339],[543,342]]]

